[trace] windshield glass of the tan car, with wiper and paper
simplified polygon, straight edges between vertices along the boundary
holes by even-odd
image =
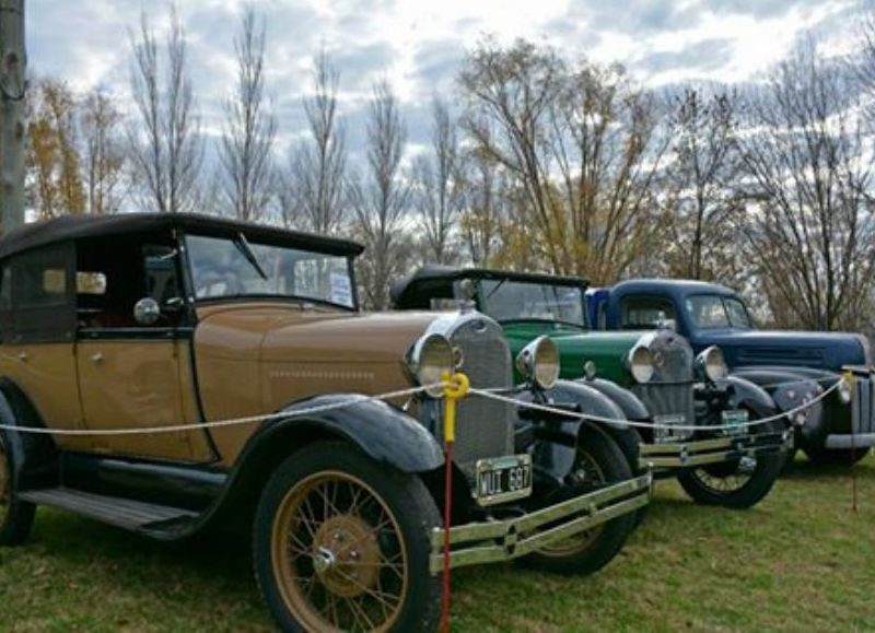
[[[349,259],[236,239],[189,235],[197,298],[288,297],[354,308]]]

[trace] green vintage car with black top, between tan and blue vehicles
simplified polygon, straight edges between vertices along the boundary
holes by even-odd
[[[397,309],[474,303],[502,325],[520,361],[534,349],[533,340],[548,338],[558,349],[561,377],[610,397],[637,429],[637,446],[627,446],[627,455],[635,456],[633,466],[677,477],[700,503],[750,507],[762,500],[781,470],[793,429],[786,419],[744,423],[792,409],[816,395],[817,386],[770,396],[728,376],[719,348],[695,356],[689,342],[667,328],[592,331],[586,285],[579,278],[425,266],[395,283],[392,297]],[[545,394],[544,401],[559,398]],[[648,426],[653,423],[658,427]],[[696,425],[721,429],[690,429]]]

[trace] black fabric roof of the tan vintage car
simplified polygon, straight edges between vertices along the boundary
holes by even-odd
[[[63,215],[25,224],[0,238],[0,257],[56,242],[182,228],[201,235],[233,237],[243,233],[252,242],[308,248],[330,255],[359,255],[364,247],[354,242],[313,235],[197,213],[118,213],[116,215]]]

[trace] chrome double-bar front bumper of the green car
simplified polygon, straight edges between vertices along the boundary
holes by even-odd
[[[666,444],[641,444],[641,468],[689,468],[707,464],[721,464],[758,453],[788,450],[793,445],[793,431],[780,433],[751,433],[737,437],[715,437]]]

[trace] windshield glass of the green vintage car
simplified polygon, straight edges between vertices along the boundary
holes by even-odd
[[[498,321],[535,319],[586,327],[581,288],[485,279],[480,294],[481,309]]]

